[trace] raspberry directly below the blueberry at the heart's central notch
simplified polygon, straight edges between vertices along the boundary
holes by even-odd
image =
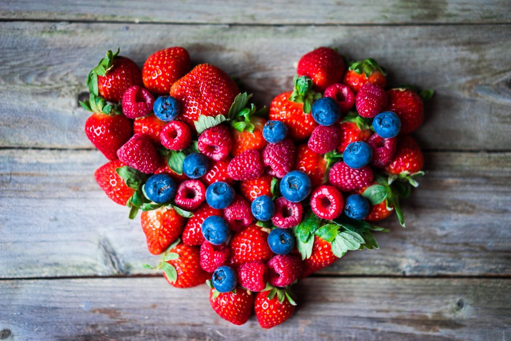
[[[263,150],[263,163],[271,176],[283,178],[293,169],[296,148],[290,139],[268,143]]]

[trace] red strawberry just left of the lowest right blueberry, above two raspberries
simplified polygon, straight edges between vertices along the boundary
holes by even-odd
[[[272,252],[267,239],[268,233],[262,231],[257,225],[250,225],[234,234],[229,244],[231,264],[269,260]]]

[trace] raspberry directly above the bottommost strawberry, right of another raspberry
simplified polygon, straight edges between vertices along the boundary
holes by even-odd
[[[268,262],[270,284],[285,287],[298,279],[301,273],[301,260],[297,256],[277,255]]]

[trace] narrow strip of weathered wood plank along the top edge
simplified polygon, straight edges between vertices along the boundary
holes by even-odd
[[[169,4],[151,1],[10,0],[0,4],[2,19],[51,19],[205,24],[424,24],[510,22],[504,0],[392,0],[342,2],[237,2],[185,0]]]

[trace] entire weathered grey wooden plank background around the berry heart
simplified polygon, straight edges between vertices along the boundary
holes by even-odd
[[[107,49],[187,48],[260,104],[317,46],[436,90],[416,133],[428,174],[379,234],[298,285],[285,324],[236,327],[207,288],[175,289],[138,220],[107,199],[78,98]],[[0,1],[0,340],[511,338],[508,0]]]

